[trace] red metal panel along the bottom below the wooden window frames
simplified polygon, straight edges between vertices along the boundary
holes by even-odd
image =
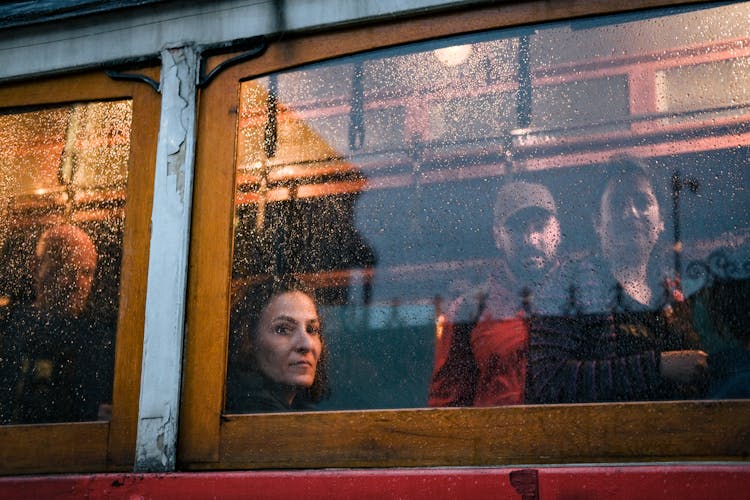
[[[6,477],[0,498],[750,499],[750,463]]]

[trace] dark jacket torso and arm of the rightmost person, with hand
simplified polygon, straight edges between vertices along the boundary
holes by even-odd
[[[702,351],[659,311],[536,316],[529,321],[527,403],[700,397]],[[697,350],[696,350],[697,351]]]

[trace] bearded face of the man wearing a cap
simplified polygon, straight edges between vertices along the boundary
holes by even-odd
[[[543,208],[524,208],[495,227],[495,242],[517,278],[537,280],[555,261],[560,223],[555,214]]]

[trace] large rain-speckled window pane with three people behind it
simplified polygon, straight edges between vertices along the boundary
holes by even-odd
[[[243,82],[226,411],[748,397],[748,19]]]

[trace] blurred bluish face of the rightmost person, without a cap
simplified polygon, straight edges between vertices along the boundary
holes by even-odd
[[[664,229],[649,179],[629,174],[611,179],[602,195],[598,233],[605,258],[618,265],[647,262]]]

